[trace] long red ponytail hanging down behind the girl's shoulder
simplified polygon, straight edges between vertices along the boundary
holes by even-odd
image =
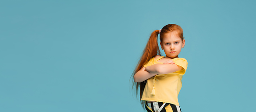
[[[157,42],[157,36],[159,34],[159,30],[155,30],[152,32],[152,34],[149,37],[149,40],[147,42],[147,45],[143,51],[143,54],[139,60],[139,63],[136,66],[136,69],[133,71],[131,78],[133,79],[133,85],[132,89],[135,88],[136,95],[138,95],[138,89],[140,90],[140,99],[142,98],[143,91],[145,88],[146,83],[141,82],[141,83],[136,83],[134,82],[134,75],[136,72],[138,72],[145,63],[147,63],[152,57],[156,55],[161,56],[160,49],[158,47],[158,42]],[[136,87],[135,87],[136,86]],[[141,105],[144,106],[144,101],[141,100]]]

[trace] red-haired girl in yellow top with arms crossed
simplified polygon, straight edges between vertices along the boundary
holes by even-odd
[[[166,56],[161,56],[158,34]],[[178,94],[187,61],[178,55],[184,45],[183,29],[176,24],[168,24],[151,34],[132,75],[133,87],[136,86],[136,93],[140,91],[141,104],[148,112],[181,112]]]

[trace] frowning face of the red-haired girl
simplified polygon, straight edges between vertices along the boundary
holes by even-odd
[[[164,35],[162,42],[160,42],[161,48],[164,50],[166,57],[178,58],[181,48],[184,48],[185,39],[183,41],[177,35],[177,33],[171,32]]]

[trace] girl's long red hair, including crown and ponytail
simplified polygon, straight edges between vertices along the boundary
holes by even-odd
[[[161,32],[160,32],[160,41],[163,40],[164,38],[164,35],[167,34],[167,33],[171,33],[171,32],[174,32],[176,31],[177,35],[182,39],[184,39],[183,37],[183,29],[176,25],[176,24],[168,24],[166,26],[164,26],[162,29],[161,29]],[[140,94],[140,99],[142,98],[142,95],[143,95],[143,91],[144,91],[144,88],[145,88],[145,85],[146,83],[144,82],[141,82],[141,83],[136,83],[134,82],[134,75],[136,74],[136,72],[138,72],[145,63],[147,63],[152,57],[156,56],[156,55],[160,55],[161,56],[161,52],[160,52],[160,49],[158,47],[158,42],[157,42],[157,37],[158,37],[158,34],[159,34],[159,30],[155,30],[152,32],[152,34],[150,35],[149,37],[149,40],[147,42],[147,45],[143,51],[143,54],[136,66],[136,69],[133,71],[132,73],[132,76],[131,78],[133,79],[133,85],[132,85],[132,89],[134,88],[135,91],[136,91],[136,95],[138,95],[138,92]],[[145,105],[145,102],[141,100],[141,104],[142,106]]]

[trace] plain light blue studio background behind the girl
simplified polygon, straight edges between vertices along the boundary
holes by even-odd
[[[129,79],[152,31],[171,23],[186,40],[182,112],[253,112],[255,5],[1,0],[0,112],[143,112]]]

